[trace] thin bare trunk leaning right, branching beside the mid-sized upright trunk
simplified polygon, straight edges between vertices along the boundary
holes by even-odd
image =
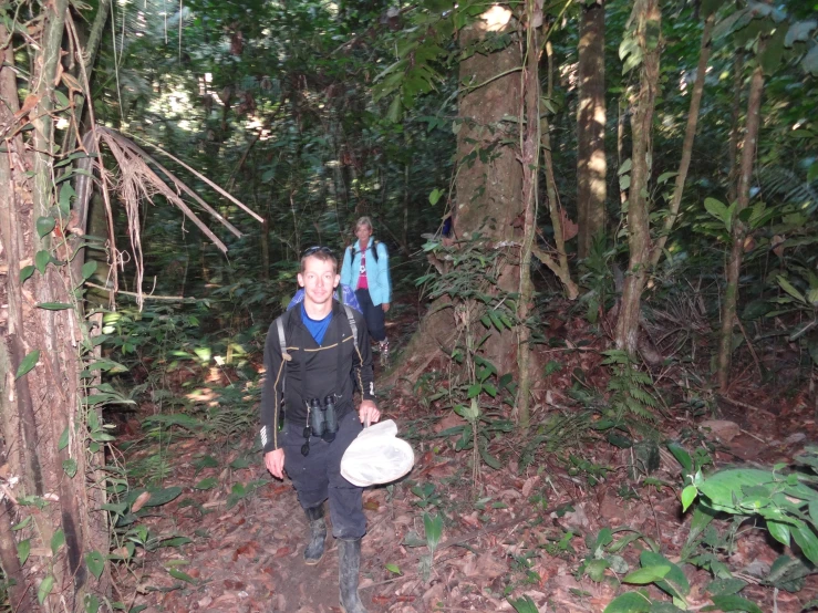
[[[651,264],[656,266],[659,260],[662,259],[662,253],[667,237],[673,229],[673,225],[676,222],[676,216],[679,215],[679,208],[682,205],[682,195],[684,194],[684,184],[687,180],[687,170],[691,166],[691,158],[693,157],[693,141],[696,137],[696,127],[698,126],[698,110],[702,105],[702,94],[704,93],[704,77],[707,73],[707,62],[710,61],[711,52],[711,32],[713,31],[713,23],[716,20],[715,13],[711,14],[704,21],[704,32],[702,32],[702,48],[698,52],[698,66],[696,67],[696,81],[693,85],[693,92],[691,93],[691,107],[687,112],[687,127],[684,132],[684,142],[682,144],[682,159],[679,163],[679,174],[676,175],[676,183],[673,187],[673,199],[671,200],[671,207],[667,211],[667,217],[664,218],[664,227],[662,228],[662,236],[653,246],[651,253]]]

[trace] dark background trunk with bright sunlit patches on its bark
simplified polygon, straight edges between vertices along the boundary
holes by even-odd
[[[578,253],[588,257],[605,228],[605,9],[604,0],[586,4],[579,33],[577,113]]]

